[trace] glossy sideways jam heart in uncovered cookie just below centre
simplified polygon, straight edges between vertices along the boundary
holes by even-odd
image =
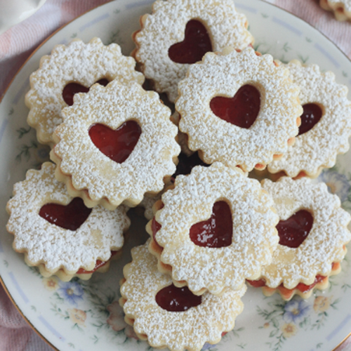
[[[220,248],[230,246],[233,236],[232,211],[225,201],[213,204],[208,220],[190,228],[190,239],[197,246]]]

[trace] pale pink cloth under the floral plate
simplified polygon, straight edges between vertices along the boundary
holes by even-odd
[[[109,0],[48,0],[31,18],[0,35],[0,96],[32,51],[60,26]],[[267,0],[309,22],[351,58],[351,21],[337,22],[318,0]],[[0,351],[50,351],[0,286]],[[350,351],[347,340],[337,351]]]

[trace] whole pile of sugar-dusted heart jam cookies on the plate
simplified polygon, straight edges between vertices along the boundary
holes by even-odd
[[[333,73],[254,51],[232,0],[157,0],[140,23],[133,58],[94,38],[41,59],[28,123],[54,164],[15,184],[7,229],[45,277],[88,279],[144,206],[126,322],[197,351],[234,328],[246,282],[308,298],[340,272],[351,217],[311,178],[347,152],[351,102]]]

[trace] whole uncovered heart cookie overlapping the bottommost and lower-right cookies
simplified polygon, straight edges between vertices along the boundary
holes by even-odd
[[[220,162],[196,166],[154,205],[158,211],[147,224],[150,252],[161,272],[196,295],[240,289],[245,279],[260,277],[277,247],[273,205],[241,169]]]

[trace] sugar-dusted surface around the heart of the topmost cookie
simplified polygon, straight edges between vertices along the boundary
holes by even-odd
[[[166,92],[171,102],[176,100],[178,81],[190,65],[173,62],[168,49],[184,40],[185,26],[192,19],[206,26],[213,51],[225,46],[242,49],[253,43],[246,17],[237,13],[232,0],[155,1],[152,15],[147,15],[143,29],[135,36],[135,58],[143,64],[144,74],[154,81],[156,90]]]

